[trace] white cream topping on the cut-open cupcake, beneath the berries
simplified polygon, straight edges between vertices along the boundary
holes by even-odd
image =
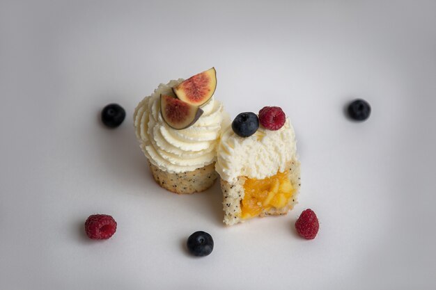
[[[226,182],[235,182],[240,176],[264,179],[286,170],[286,162],[297,158],[296,150],[295,133],[288,118],[277,131],[259,127],[247,138],[228,127],[217,147],[215,169]]]

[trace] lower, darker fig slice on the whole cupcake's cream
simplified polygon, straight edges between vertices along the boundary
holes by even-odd
[[[203,110],[175,97],[160,95],[160,113],[169,127],[180,130],[192,126]]]

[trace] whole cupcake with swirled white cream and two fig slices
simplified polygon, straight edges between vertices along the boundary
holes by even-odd
[[[212,97],[214,78],[212,68],[186,81],[161,83],[134,111],[137,139],[153,177],[173,193],[204,191],[217,179],[216,148],[223,122],[229,121]]]

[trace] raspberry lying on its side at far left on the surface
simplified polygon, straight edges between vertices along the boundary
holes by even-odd
[[[93,214],[86,219],[85,231],[89,239],[109,239],[116,232],[116,221],[107,214]]]

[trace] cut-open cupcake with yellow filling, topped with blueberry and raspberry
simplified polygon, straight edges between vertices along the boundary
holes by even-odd
[[[225,129],[215,166],[221,177],[224,223],[286,214],[300,187],[295,132],[279,107],[241,113]]]

